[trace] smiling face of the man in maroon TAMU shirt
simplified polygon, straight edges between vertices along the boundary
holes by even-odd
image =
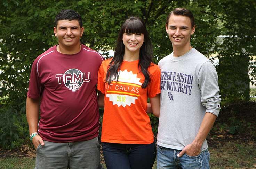
[[[75,47],[80,45],[83,27],[80,28],[78,20],[59,20],[57,28],[54,27],[54,34],[63,48]]]

